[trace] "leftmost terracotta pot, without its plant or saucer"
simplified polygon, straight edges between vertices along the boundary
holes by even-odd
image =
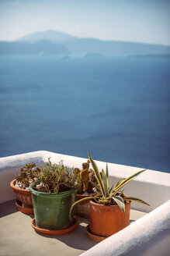
[[[12,187],[12,190],[16,194],[16,198],[23,204],[33,207],[31,192],[29,190],[23,190],[19,187],[16,187],[15,184],[16,184],[16,180],[12,180],[12,182],[10,183],[10,186]]]

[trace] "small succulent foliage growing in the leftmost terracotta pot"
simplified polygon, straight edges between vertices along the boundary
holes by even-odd
[[[28,163],[20,169],[20,174],[16,175],[16,187],[28,189],[29,185],[38,179],[40,169],[36,168],[36,164]]]

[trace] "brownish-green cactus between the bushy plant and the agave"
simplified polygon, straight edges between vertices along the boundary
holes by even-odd
[[[77,194],[83,194],[87,192],[88,194],[96,192],[95,184],[97,180],[95,179],[95,172],[89,169],[90,161],[82,163],[82,170],[75,168],[74,174],[78,182]]]

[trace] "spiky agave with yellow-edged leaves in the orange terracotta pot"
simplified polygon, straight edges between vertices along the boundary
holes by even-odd
[[[108,166],[106,164],[106,172],[102,170],[102,172],[99,172],[99,169],[97,165],[95,164],[95,161],[92,159],[91,155],[88,152],[88,158],[92,164],[92,168],[95,172],[95,178],[98,181],[98,184],[96,185],[93,183],[93,185],[97,188],[99,191],[98,194],[96,194],[94,197],[88,197],[88,198],[82,198],[79,201],[76,201],[75,204],[80,203],[81,201],[85,200],[94,200],[97,204],[104,204],[104,205],[118,205],[120,207],[120,210],[122,212],[125,212],[125,204],[126,201],[137,201],[142,204],[147,204],[145,201],[137,198],[137,197],[125,197],[123,194],[122,187],[125,186],[127,183],[129,183],[131,180],[134,180],[138,175],[140,175],[142,172],[144,172],[146,169],[143,169],[139,172],[134,173],[132,176],[129,176],[127,179],[121,179],[118,180],[116,185],[109,188],[108,186]],[[71,211],[74,208],[75,204],[72,204],[70,209],[70,218],[71,218]],[[147,204],[149,205],[149,204]]]

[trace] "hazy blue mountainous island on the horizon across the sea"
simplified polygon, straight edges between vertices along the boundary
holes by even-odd
[[[80,38],[47,30],[0,41],[0,55],[170,55],[170,46]]]

